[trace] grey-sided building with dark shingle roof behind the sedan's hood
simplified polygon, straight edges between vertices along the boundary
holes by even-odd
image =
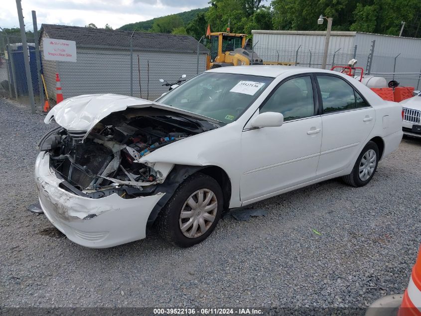
[[[130,36],[133,32],[43,24],[42,39],[76,41],[77,62],[45,60],[42,64],[47,90],[55,98],[55,73],[60,74],[63,97],[90,93],[130,95]],[[160,78],[176,81],[181,74],[196,75],[197,47],[199,72],[205,70],[208,50],[191,36],[135,33],[133,36],[133,95],[155,99],[168,91]],[[149,71],[148,65],[149,64]],[[149,75],[148,75],[149,73]],[[148,93],[147,93],[148,87]]]

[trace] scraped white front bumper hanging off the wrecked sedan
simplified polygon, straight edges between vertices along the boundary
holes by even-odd
[[[72,242],[89,248],[107,248],[145,238],[146,223],[164,196],[124,199],[111,194],[101,199],[79,196],[60,188],[64,180],[50,170],[49,154],[35,163],[39,202],[48,220]]]

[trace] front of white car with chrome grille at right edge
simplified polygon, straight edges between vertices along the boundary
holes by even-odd
[[[400,102],[404,110],[402,130],[405,135],[421,137],[421,91],[414,91],[412,98]]]

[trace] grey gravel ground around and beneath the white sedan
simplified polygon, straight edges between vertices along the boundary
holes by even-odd
[[[331,180],[226,217],[205,242],[87,249],[26,207],[52,126],[0,99],[0,307],[348,307],[402,293],[421,240],[421,142],[404,139],[366,187]],[[315,234],[312,229],[320,232]]]

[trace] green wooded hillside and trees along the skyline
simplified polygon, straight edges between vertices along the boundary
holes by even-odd
[[[421,0],[210,0],[210,6],[127,24],[121,29],[188,34],[199,39],[224,31],[251,34],[253,29],[325,30],[320,14],[333,18],[332,30],[421,37]]]

